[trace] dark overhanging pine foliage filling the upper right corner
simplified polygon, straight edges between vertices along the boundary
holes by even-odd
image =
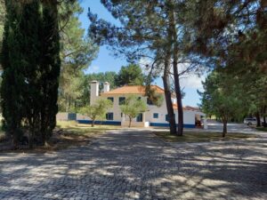
[[[239,77],[249,115],[266,116],[267,4],[264,0],[188,1],[190,52],[212,58]],[[192,14],[195,12],[196,14]],[[232,85],[231,85],[232,87]],[[245,105],[244,105],[245,106]]]

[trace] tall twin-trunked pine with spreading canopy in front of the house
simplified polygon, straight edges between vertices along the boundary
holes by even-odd
[[[107,0],[101,3],[120,21],[122,28],[117,28],[108,21],[99,20],[97,15],[89,12],[88,16],[92,21],[89,34],[99,44],[108,44],[115,50],[116,55],[123,54],[133,62],[141,58],[150,58],[152,64],[148,65],[147,69],[152,77],[159,76],[164,70],[166,71],[164,87],[167,91],[165,95],[169,116],[174,116],[168,80],[173,77],[174,91],[179,104],[178,120],[181,124],[178,131],[182,135],[182,94],[177,64],[186,57],[180,43],[182,40],[180,38],[187,35],[182,30],[184,1]],[[171,65],[174,70],[170,70]],[[173,133],[176,132],[173,117],[170,120],[170,130]]]

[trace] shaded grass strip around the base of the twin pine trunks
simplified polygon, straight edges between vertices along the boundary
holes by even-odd
[[[240,140],[247,138],[256,138],[255,134],[247,133],[227,133],[222,137],[222,132],[183,132],[183,136],[171,135],[169,132],[154,132],[159,138],[168,142],[208,142],[208,141],[225,141]]]

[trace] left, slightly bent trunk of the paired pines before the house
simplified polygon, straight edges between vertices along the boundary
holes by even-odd
[[[166,60],[165,60],[165,67],[164,67],[164,75],[162,77],[163,79],[163,85],[164,85],[164,93],[165,93],[165,99],[166,99],[166,108],[169,118],[169,124],[170,124],[170,133],[176,134],[176,123],[175,123],[175,117],[174,117],[174,106],[172,101],[172,92],[170,91],[170,80],[169,80],[169,73],[170,73],[170,53],[167,53]]]

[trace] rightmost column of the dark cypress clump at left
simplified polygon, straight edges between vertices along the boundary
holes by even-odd
[[[43,3],[43,57],[41,62],[42,98],[41,134],[45,144],[52,136],[58,112],[58,88],[61,72],[60,36],[56,1]]]

